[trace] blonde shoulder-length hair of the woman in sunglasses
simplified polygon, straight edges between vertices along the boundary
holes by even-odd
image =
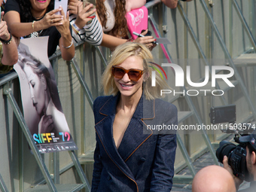
[[[113,52],[112,58],[102,75],[102,87],[104,89],[105,95],[112,94],[117,95],[119,90],[114,83],[114,76],[111,74],[112,66],[117,66],[122,63],[129,56],[139,56],[143,60],[143,68],[145,72],[143,73],[144,84],[143,91],[146,99],[156,99],[161,97],[160,91],[169,88],[165,80],[163,80],[159,73],[156,74],[156,86],[151,86],[152,81],[152,71],[154,69],[151,67],[154,64],[153,56],[151,51],[144,44],[126,42],[125,44],[119,45]]]

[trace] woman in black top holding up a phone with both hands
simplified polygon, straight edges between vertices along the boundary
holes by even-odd
[[[4,20],[8,23],[11,34],[17,38],[48,35],[48,56],[55,53],[59,44],[62,58],[71,60],[75,56],[75,47],[69,15],[66,17],[62,8],[53,10],[53,5],[54,0],[8,0]]]

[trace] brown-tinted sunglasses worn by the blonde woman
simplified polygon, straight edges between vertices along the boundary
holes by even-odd
[[[142,77],[144,70],[140,69],[123,69],[119,66],[112,66],[112,75],[114,78],[123,78],[125,74],[128,74],[131,81],[138,81]]]

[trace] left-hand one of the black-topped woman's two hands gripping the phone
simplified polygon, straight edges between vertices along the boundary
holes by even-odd
[[[45,14],[44,18],[38,21],[35,21],[34,28],[35,31],[39,31],[41,29],[47,29],[50,26],[62,26],[63,15],[56,14],[58,11],[62,11],[62,8],[54,9],[53,11]]]

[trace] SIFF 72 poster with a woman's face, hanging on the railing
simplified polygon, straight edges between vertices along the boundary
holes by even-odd
[[[76,150],[47,56],[47,41],[48,37],[20,40],[14,69],[20,80],[24,118],[41,153]]]

